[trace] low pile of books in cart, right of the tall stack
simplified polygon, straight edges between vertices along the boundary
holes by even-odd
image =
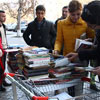
[[[49,69],[49,78],[59,78],[62,80],[73,80],[86,75],[85,71],[78,70],[78,67],[58,67]]]

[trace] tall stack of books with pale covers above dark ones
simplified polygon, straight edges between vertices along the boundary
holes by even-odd
[[[50,55],[46,48],[34,48],[32,50],[23,51],[25,66],[23,74],[26,77],[47,74],[50,68]]]

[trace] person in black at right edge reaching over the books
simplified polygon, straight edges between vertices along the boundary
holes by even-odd
[[[82,18],[87,22],[89,27],[97,30],[97,46],[91,50],[84,50],[78,53],[69,53],[66,55],[66,57],[68,57],[70,61],[75,60],[77,57],[79,57],[80,60],[94,59],[99,62],[98,66],[100,66],[100,1],[92,1],[86,5],[83,10]],[[97,67],[92,72],[100,75],[100,67]]]

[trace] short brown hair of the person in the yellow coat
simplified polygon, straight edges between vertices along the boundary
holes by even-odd
[[[82,4],[77,0],[73,0],[69,3],[68,10],[69,12],[75,12],[76,10],[82,10]]]

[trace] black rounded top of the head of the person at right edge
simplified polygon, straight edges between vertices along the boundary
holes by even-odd
[[[90,24],[100,25],[100,1],[92,1],[85,5],[82,18]]]

